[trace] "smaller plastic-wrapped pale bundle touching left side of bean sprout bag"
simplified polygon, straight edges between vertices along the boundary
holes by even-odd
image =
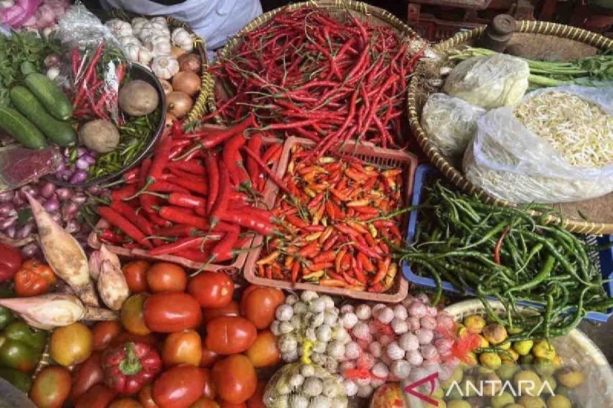
[[[422,127],[442,154],[462,157],[485,109],[446,94],[431,94],[422,111]]]

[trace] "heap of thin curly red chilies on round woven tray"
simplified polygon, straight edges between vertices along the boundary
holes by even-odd
[[[243,35],[211,68],[225,88],[217,113],[231,122],[253,112],[264,129],[316,141],[319,154],[349,138],[402,146],[408,76],[424,43],[350,13],[342,20],[302,7]]]

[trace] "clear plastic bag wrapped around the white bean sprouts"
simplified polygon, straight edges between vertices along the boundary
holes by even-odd
[[[613,87],[552,87],[531,92],[524,100],[552,91],[576,95],[606,114],[613,113]],[[581,201],[613,191],[613,165],[571,165],[517,121],[513,112],[510,106],[493,109],[479,119],[463,158],[468,180],[492,196],[518,203]]]

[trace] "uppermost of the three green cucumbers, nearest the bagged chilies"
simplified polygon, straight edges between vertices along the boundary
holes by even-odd
[[[72,117],[72,102],[61,87],[47,78],[47,75],[37,72],[29,73],[24,83],[51,116],[60,121],[67,121]]]

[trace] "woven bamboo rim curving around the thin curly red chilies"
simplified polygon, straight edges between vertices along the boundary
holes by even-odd
[[[401,33],[401,37],[411,37],[411,38],[421,38],[416,31],[410,28],[405,22],[397,18],[392,13],[387,10],[381,9],[381,7],[373,6],[371,4],[367,4],[362,1],[354,1],[354,0],[311,0],[311,1],[302,1],[296,2],[292,4],[288,4],[287,6],[277,7],[276,9],[265,12],[258,17],[251,20],[243,29],[241,29],[237,34],[234,35],[226,45],[218,51],[218,58],[211,66],[215,66],[219,64],[222,59],[227,59],[232,56],[232,51],[238,45],[238,43],[242,40],[242,37],[248,32],[253,31],[256,28],[268,23],[268,21],[272,20],[275,15],[283,10],[294,11],[298,9],[302,9],[303,7],[321,7],[322,9],[331,9],[331,10],[348,10],[352,12],[357,12],[362,15],[376,17],[378,20],[384,21],[384,23],[389,24],[392,28],[397,29]],[[211,75],[211,80],[213,80],[213,86],[215,86],[216,81],[215,78]],[[213,103],[214,107],[210,110],[212,114],[213,111],[217,110],[216,102],[215,102],[215,94],[213,92]],[[215,114],[215,121],[219,124],[224,124],[223,119],[218,114]]]

